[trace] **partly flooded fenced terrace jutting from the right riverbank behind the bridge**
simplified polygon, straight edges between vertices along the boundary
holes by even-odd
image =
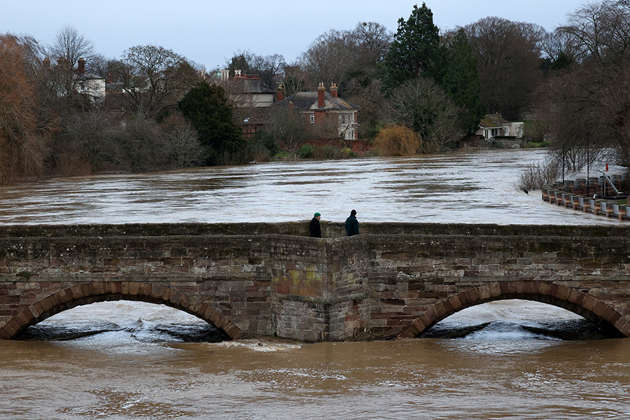
[[[630,221],[630,214],[626,214],[626,206],[630,204],[630,197],[628,197],[627,191],[622,191],[622,183],[626,180],[626,176],[612,175],[608,179],[617,190],[610,186],[604,176],[591,177],[544,186],[542,187],[542,200],[597,216]]]

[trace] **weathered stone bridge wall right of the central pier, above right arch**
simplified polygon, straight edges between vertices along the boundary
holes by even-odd
[[[556,304],[608,330],[610,320],[619,321],[617,327],[630,332],[626,237],[374,235],[368,240],[374,250],[369,277],[374,332],[402,332],[418,314],[440,307],[445,312],[422,325],[428,328],[459,309],[507,297]],[[562,295],[559,287],[577,294]],[[483,297],[468,293],[478,288],[496,291]],[[603,322],[607,309],[582,307],[585,297],[615,309],[622,319],[608,316]]]

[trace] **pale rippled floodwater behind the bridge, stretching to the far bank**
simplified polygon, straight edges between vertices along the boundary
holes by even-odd
[[[277,162],[0,188],[0,224],[309,220],[614,224],[514,188],[544,151]],[[594,171],[594,169],[592,169]]]

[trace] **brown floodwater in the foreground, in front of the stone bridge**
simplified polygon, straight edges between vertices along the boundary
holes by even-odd
[[[627,419],[630,340],[0,342],[2,419]]]

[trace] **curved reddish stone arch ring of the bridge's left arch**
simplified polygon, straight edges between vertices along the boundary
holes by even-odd
[[[13,316],[0,329],[0,338],[14,339],[29,326],[66,309],[72,309],[83,304],[115,300],[165,304],[212,323],[231,339],[239,339],[244,336],[244,332],[219,311],[179,290],[153,283],[111,281],[72,286],[31,304],[27,309]]]

